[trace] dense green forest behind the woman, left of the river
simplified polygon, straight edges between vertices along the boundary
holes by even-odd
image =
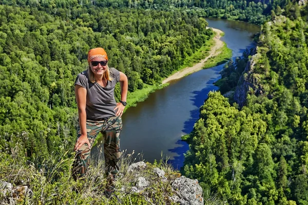
[[[128,76],[132,92],[179,69],[212,35],[206,26],[186,11],[1,5],[0,149],[20,141],[31,156],[73,147],[73,85],[90,48],[106,49],[109,66]]]

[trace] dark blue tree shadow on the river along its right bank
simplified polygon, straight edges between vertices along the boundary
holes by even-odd
[[[184,128],[183,128],[182,132],[188,134],[194,128],[195,122],[199,119],[200,107],[204,104],[204,100],[207,99],[207,93],[209,91],[213,91],[213,90],[217,90],[218,89],[218,87],[214,86],[213,84],[215,83],[215,81],[220,79],[219,72],[223,69],[223,66],[224,66],[224,64],[220,65],[220,66],[217,66],[217,67],[210,68],[211,70],[215,71],[215,74],[218,77],[210,78],[206,82],[206,85],[205,85],[205,87],[202,90],[195,90],[195,91],[191,92],[192,94],[194,94],[194,96],[191,97],[190,101],[192,101],[192,105],[196,106],[196,109],[190,111],[190,118],[187,119],[184,122]],[[187,142],[186,141],[182,141],[181,139],[179,139],[176,142],[176,145],[178,147],[175,147],[173,149],[169,149],[168,151],[172,152],[172,153],[176,153],[176,154],[178,154],[178,156],[174,156],[174,159],[170,159],[168,161],[168,163],[171,163],[172,165],[177,165],[177,167],[174,167],[174,168],[175,169],[180,169],[181,167],[183,167],[184,153],[187,152],[189,147],[188,147]]]

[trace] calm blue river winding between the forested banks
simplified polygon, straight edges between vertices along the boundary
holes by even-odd
[[[209,27],[225,33],[221,39],[232,49],[233,58],[254,46],[252,35],[260,30],[244,22],[206,20]],[[137,107],[129,108],[122,116],[121,149],[127,150],[127,154],[134,150],[135,156],[141,153],[143,159],[149,162],[162,159],[161,155],[163,159],[167,156],[174,168],[182,167],[183,153],[188,150],[188,145],[181,141],[181,136],[192,131],[207,93],[218,89],[213,83],[221,77],[219,71],[223,66],[172,81],[168,87],[151,93]]]

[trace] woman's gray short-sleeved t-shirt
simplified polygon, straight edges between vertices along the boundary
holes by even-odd
[[[98,83],[91,83],[88,71],[78,74],[75,85],[80,85],[87,89],[86,113],[87,119],[100,120],[104,117],[115,116],[113,110],[117,103],[114,99],[115,84],[120,81],[120,72],[115,68],[110,69],[112,81],[107,81],[107,86],[103,88]]]

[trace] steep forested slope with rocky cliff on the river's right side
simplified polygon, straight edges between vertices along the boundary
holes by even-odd
[[[233,204],[308,204],[308,6],[288,4],[262,27],[237,90],[245,105],[210,92],[187,141],[183,173]],[[230,63],[218,83],[239,79]],[[238,99],[235,99],[237,101]]]

